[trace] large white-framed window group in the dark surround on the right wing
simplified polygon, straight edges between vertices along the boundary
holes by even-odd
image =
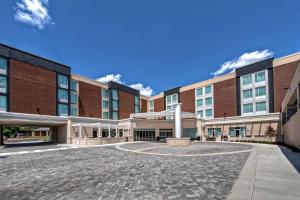
[[[266,114],[269,111],[268,102],[268,70],[247,74],[241,77],[241,114]]]

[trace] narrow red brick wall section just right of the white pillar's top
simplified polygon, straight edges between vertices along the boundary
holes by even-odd
[[[180,93],[181,109],[184,112],[195,112],[195,89]]]

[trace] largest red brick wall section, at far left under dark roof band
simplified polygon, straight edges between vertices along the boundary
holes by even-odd
[[[10,111],[56,115],[56,73],[11,59]]]

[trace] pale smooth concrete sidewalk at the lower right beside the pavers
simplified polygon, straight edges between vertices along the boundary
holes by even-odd
[[[300,153],[277,145],[254,144],[228,199],[299,199],[299,167]]]

